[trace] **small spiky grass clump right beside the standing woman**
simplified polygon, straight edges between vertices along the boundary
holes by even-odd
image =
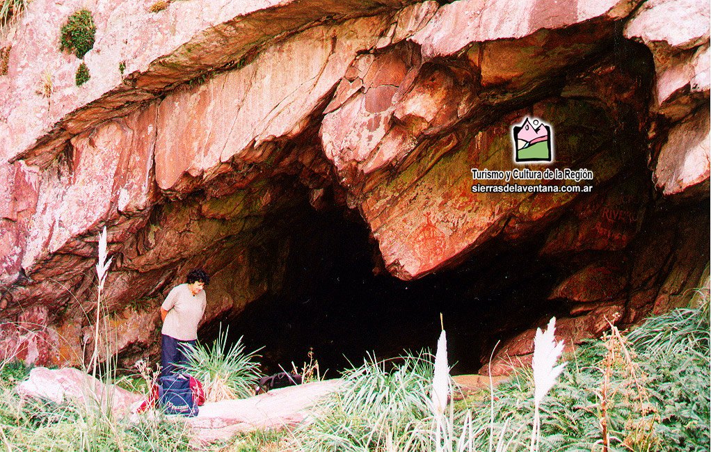
[[[205,400],[242,399],[255,394],[260,380],[257,352],[245,351],[242,338],[227,347],[228,330],[222,325],[211,347],[197,343],[188,354],[187,364],[178,364],[179,372],[186,372],[203,383]]]

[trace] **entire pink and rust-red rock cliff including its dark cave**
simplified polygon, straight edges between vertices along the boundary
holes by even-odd
[[[432,345],[443,312],[463,370],[503,340],[496,373],[551,315],[572,345],[707,284],[704,2],[90,3],[35,0],[0,42],[4,356],[90,357],[102,227],[126,365],[193,267],[202,334],[268,325],[274,363],[339,328],[324,355]],[[80,60],[59,30],[82,7]],[[552,161],[515,161],[525,118]]]

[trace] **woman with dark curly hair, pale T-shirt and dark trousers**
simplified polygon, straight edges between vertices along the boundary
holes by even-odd
[[[210,276],[203,269],[188,273],[185,284],[173,287],[161,306],[161,377],[175,372],[175,365],[185,364],[189,350],[198,339],[198,324],[205,313],[205,286]]]

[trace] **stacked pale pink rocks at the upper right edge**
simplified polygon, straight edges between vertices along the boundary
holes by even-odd
[[[658,68],[656,109],[675,122],[668,139],[653,140],[661,146],[654,176],[665,195],[689,196],[708,188],[709,17],[706,2],[655,0],[643,4],[624,30],[652,50]]]

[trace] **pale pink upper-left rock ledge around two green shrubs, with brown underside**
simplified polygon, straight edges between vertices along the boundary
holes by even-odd
[[[92,78],[75,85],[79,61],[58,52],[58,30],[80,1],[43,0],[23,14],[11,33],[9,75],[0,79],[0,158],[30,158],[48,165],[73,134],[119,117],[163,90],[210,68],[235,64],[247,51],[279,33],[296,31],[323,16],[358,16],[401,3],[326,1],[314,8],[298,1],[255,0],[175,4],[156,14],[150,1],[97,4],[95,46],[85,55]],[[42,26],[33,28],[32,23]],[[179,25],[178,25],[179,24]],[[150,39],[146,39],[150,36]],[[119,63],[126,68],[122,75]],[[28,87],[51,80],[49,99]],[[37,90],[43,92],[43,87]],[[21,101],[22,99],[22,101]],[[33,117],[27,122],[23,118]],[[44,154],[44,155],[43,155]]]

